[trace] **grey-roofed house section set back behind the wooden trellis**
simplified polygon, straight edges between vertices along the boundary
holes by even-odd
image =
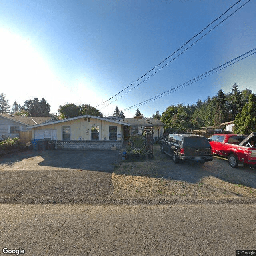
[[[124,118],[120,122],[130,124],[130,134],[142,134],[144,127],[152,127],[154,130],[153,137],[160,138],[163,136],[163,127],[165,124],[156,118]]]

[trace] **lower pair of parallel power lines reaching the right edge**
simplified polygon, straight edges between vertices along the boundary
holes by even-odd
[[[251,56],[252,54],[255,54],[256,52],[253,52],[253,51],[255,51],[255,50],[256,50],[256,48],[254,48],[254,49],[252,49],[252,50],[250,50],[250,51],[248,51],[248,52],[246,52],[246,53],[244,53],[244,54],[242,54],[242,55],[240,55],[240,56],[238,56],[238,57],[236,57],[236,58],[234,58],[234,59],[232,59],[232,60],[230,60],[230,61],[228,61],[228,62],[226,62],[226,63],[224,63],[224,64],[222,64],[222,65],[220,65],[220,66],[218,66],[218,67],[216,67],[216,68],[213,68],[212,70],[209,70],[209,71],[205,72],[204,74],[201,74],[200,76],[197,76],[196,78],[193,78],[193,79],[191,79],[191,80],[189,80],[189,81],[187,81],[187,82],[185,82],[185,83],[183,83],[183,84],[180,84],[180,85],[178,85],[178,86],[176,86],[176,87],[174,87],[174,88],[171,88],[170,90],[168,90],[168,91],[166,91],[166,92],[163,92],[163,93],[161,93],[161,94],[158,94],[158,95],[156,95],[156,96],[154,96],[154,97],[152,97],[152,98],[150,98],[150,99],[148,99],[148,100],[144,100],[144,101],[142,101],[142,102],[140,102],[140,103],[138,103],[138,104],[135,104],[135,105],[130,106],[130,107],[128,107],[128,108],[124,108],[123,111],[130,110],[130,109],[132,109],[132,108],[136,108],[136,107],[138,107],[138,106],[144,105],[144,104],[146,104],[146,103],[148,103],[148,102],[151,102],[151,101],[153,101],[153,100],[156,100],[156,99],[158,99],[158,98],[161,98],[161,97],[163,97],[163,96],[166,96],[166,95],[168,95],[168,94],[170,94],[170,93],[172,93],[172,92],[175,92],[176,90],[180,90],[181,88],[184,88],[184,87],[186,87],[186,86],[188,86],[188,85],[190,85],[190,84],[193,84],[194,82],[197,82],[197,81],[199,81],[199,80],[202,80],[203,78],[206,78],[207,76],[210,76],[210,75],[212,75],[212,74],[214,74],[214,73],[216,73],[216,72],[218,72],[218,71],[220,71],[220,70],[222,70],[222,69],[224,69],[224,68],[227,68],[228,66],[231,66],[231,65],[235,64],[236,62],[238,62],[238,61],[240,61],[240,60],[243,60],[243,59],[245,59],[245,58]],[[253,53],[251,53],[251,52],[253,52]],[[245,55],[247,55],[247,54],[249,54],[249,53],[251,53],[251,54],[248,55],[248,56],[245,56]],[[241,58],[242,56],[245,56],[245,57],[244,57],[244,58]],[[239,59],[239,58],[240,58],[240,59]],[[236,61],[234,62],[234,60],[236,60]],[[233,62],[233,63],[231,63],[231,62]],[[231,64],[229,64],[229,63],[231,63]],[[227,64],[229,64],[229,65],[227,65]],[[227,65],[227,66],[226,66],[226,65]],[[218,70],[216,70],[216,69],[218,69]],[[215,71],[214,71],[214,70],[215,70]],[[213,72],[213,71],[214,71],[214,72]],[[210,73],[210,74],[209,74],[209,73]],[[174,90],[174,89],[176,89],[176,90]]]

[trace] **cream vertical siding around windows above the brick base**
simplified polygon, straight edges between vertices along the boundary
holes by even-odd
[[[90,119],[90,121],[88,121],[88,119]],[[32,138],[35,138],[34,130],[56,130],[57,140],[62,140],[63,126],[70,126],[70,140],[91,140],[92,126],[99,126],[99,140],[109,140],[109,126],[117,126],[117,140],[122,140],[123,136],[121,124],[99,120],[96,118],[81,118],[33,128]]]

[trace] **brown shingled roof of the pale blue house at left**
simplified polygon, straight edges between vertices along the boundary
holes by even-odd
[[[1,117],[18,122],[20,124],[24,124],[27,126],[31,126],[34,124],[43,124],[43,123],[47,123],[47,122],[51,122],[54,120],[57,120],[57,118],[52,117],[52,116],[48,116],[48,117],[44,117],[44,116],[34,116],[34,117],[30,117],[30,116],[16,116],[16,115],[8,115],[8,114],[0,114]]]

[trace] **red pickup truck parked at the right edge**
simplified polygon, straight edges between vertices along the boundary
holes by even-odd
[[[256,132],[240,134],[214,134],[208,138],[212,152],[228,158],[231,167],[238,162],[256,165]]]

